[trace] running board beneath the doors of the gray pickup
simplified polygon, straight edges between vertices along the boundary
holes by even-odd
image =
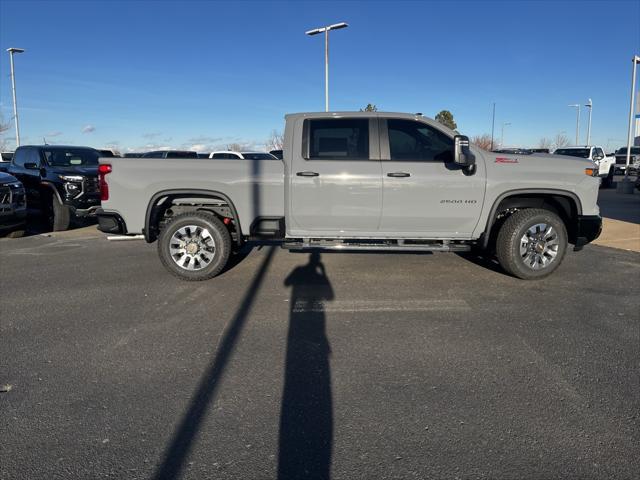
[[[302,239],[296,241],[286,241],[282,248],[291,251],[301,250],[334,250],[334,251],[396,251],[396,252],[468,252],[471,246],[465,243],[442,242],[422,242],[413,243],[403,240],[385,241],[342,241],[342,240],[311,240]]]

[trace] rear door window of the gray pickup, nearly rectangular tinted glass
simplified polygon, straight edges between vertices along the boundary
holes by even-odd
[[[306,120],[310,160],[368,160],[369,119]]]

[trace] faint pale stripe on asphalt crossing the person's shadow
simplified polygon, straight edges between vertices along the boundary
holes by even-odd
[[[327,312],[429,312],[470,310],[464,300],[336,300],[332,302],[297,300],[293,313]]]

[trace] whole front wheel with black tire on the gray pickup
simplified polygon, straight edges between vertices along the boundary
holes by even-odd
[[[545,236],[539,232],[535,228],[539,225],[552,227],[550,232],[553,232],[555,237],[551,237],[551,233]],[[524,238],[528,239],[526,244],[523,243]],[[522,249],[525,250],[524,254]],[[566,252],[567,229],[560,217],[549,210],[519,210],[507,218],[498,232],[496,254],[500,266],[523,280],[550,275],[560,266]],[[545,264],[545,261],[548,263]]]

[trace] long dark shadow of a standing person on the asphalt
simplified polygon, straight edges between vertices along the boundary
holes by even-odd
[[[291,287],[278,438],[278,479],[328,479],[333,445],[331,349],[324,302],[334,298],[317,252],[285,279]]]

